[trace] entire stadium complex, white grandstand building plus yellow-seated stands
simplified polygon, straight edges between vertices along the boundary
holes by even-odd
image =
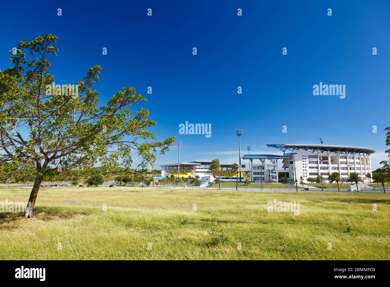
[[[348,181],[351,173],[357,173],[367,182],[367,173],[372,174],[370,155],[375,150],[370,148],[323,144],[267,144],[267,147],[277,148],[283,155],[242,156],[244,162],[249,162],[251,182],[284,182],[286,178],[288,181],[299,181],[302,176],[307,183],[308,178],[316,178],[318,175],[322,175],[325,182],[329,182],[329,175],[333,172],[340,173],[343,182]],[[213,182],[218,178],[218,173],[211,171],[210,164],[211,161],[205,160],[165,164],[161,166],[161,177],[199,176],[201,182]],[[231,164],[221,164],[221,167],[221,181],[236,181],[237,177],[244,180],[243,172],[239,174],[230,171]],[[241,164],[241,167],[244,170],[245,164]]]

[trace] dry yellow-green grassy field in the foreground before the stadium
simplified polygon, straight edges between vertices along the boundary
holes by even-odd
[[[2,189],[0,201],[29,192]],[[274,200],[299,201],[300,215],[267,212]],[[388,194],[76,187],[40,191],[34,211],[34,219],[0,213],[0,259],[390,257]]]

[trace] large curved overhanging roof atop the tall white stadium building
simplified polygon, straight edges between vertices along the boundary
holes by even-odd
[[[360,148],[357,146],[332,146],[324,144],[267,144],[269,148],[277,148],[282,152],[286,150],[308,150],[309,152],[331,152],[331,153],[374,153],[371,148]]]

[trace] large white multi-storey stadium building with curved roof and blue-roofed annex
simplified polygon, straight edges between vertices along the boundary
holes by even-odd
[[[267,182],[272,179],[280,182],[283,178],[297,179],[316,178],[322,175],[329,182],[329,175],[340,173],[343,182],[348,181],[350,173],[357,173],[362,180],[369,181],[367,173],[372,175],[371,153],[375,150],[356,146],[331,146],[316,144],[267,144],[277,148],[281,155],[243,155],[242,159],[250,160],[252,182]],[[290,151],[290,152],[287,152]],[[282,161],[278,168],[278,159]],[[254,163],[260,160],[260,164]],[[268,160],[270,164],[266,162]],[[296,171],[294,173],[294,170]]]

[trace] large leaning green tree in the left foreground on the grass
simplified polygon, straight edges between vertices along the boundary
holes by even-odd
[[[134,87],[124,87],[105,105],[99,104],[99,92],[92,86],[99,80],[100,66],[90,68],[77,82],[78,91],[53,88],[48,58],[57,56],[53,46],[57,39],[46,34],[20,41],[10,58],[14,67],[0,71],[0,166],[13,169],[14,176],[34,175],[27,217],[34,217],[39,187],[51,167],[90,168],[99,161],[116,167],[119,159],[129,167],[131,150],[145,166],[156,160],[157,151],[164,154],[176,141],[175,137],[157,140],[149,131],[156,122],[149,119],[147,109],[133,115],[130,107],[146,101]],[[27,59],[28,54],[33,59]]]

